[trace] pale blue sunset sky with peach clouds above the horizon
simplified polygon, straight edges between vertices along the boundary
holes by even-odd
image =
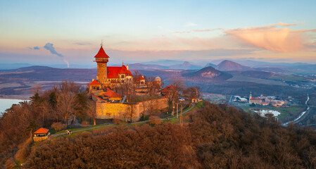
[[[316,63],[316,1],[0,0],[0,61]],[[71,67],[71,66],[70,66]]]

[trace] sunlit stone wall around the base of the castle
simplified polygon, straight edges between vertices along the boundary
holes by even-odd
[[[168,99],[152,99],[148,101],[141,101],[137,104],[122,104],[109,102],[96,102],[96,118],[137,121],[141,115],[156,113],[168,108]]]

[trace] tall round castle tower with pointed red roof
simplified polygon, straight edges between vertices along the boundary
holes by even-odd
[[[108,83],[108,58],[110,58],[106,52],[103,50],[102,44],[101,48],[94,56],[96,58],[96,64],[98,65],[98,75],[96,75],[96,80],[101,82],[101,84],[107,84]]]

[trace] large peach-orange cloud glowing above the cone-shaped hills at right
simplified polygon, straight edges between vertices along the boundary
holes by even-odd
[[[277,28],[275,25],[289,26],[294,24],[277,23],[263,27],[247,27],[227,30],[225,33],[239,42],[275,52],[291,52],[304,49],[304,44],[310,39],[307,32],[316,30],[289,30]]]

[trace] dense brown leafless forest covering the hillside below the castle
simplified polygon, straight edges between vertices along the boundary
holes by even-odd
[[[26,168],[315,168],[316,134],[205,103],[183,126],[115,127],[33,146]]]

